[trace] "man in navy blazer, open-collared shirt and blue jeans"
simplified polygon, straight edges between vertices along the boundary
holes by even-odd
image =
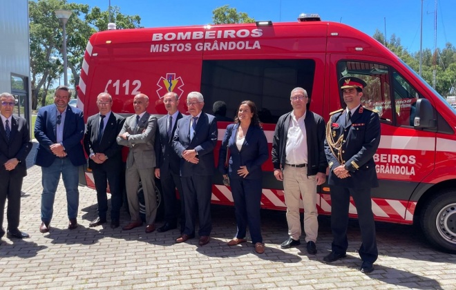
[[[41,233],[49,231],[60,175],[64,180],[68,203],[68,229],[77,228],[79,166],[86,163],[81,144],[84,137],[84,116],[82,110],[68,106],[70,99],[70,89],[58,86],[54,104],[40,108],[35,122],[35,138],[39,143],[35,164],[41,166],[43,184],[39,226]]]

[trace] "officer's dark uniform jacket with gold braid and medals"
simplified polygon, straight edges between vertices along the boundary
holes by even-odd
[[[346,122],[347,110],[333,112],[327,124],[325,154],[330,185],[348,188],[377,187],[374,154],[380,143],[380,119],[377,113],[359,106]],[[339,139],[341,138],[341,139]],[[339,140],[340,146],[332,146]],[[344,164],[350,177],[339,178],[333,170]]]

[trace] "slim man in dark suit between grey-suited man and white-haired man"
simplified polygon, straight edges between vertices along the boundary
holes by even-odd
[[[168,111],[158,119],[158,130],[155,136],[155,157],[157,165],[155,167],[155,177],[160,179],[162,184],[164,202],[164,224],[157,229],[159,233],[164,233],[170,229],[178,227],[179,216],[178,199],[175,196],[175,189],[178,188],[180,195],[180,229],[181,233],[185,227],[184,202],[182,197],[182,183],[180,182],[179,165],[180,157],[173,150],[173,134],[177,127],[178,120],[182,114],[178,110],[179,96],[169,92],[163,96],[163,103]]]

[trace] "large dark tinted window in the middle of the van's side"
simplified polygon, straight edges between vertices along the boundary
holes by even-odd
[[[312,98],[313,59],[203,60],[201,93],[211,113],[215,101],[225,101],[226,117],[234,118],[241,101],[254,101],[260,122],[276,124],[292,110],[289,95],[300,86]]]

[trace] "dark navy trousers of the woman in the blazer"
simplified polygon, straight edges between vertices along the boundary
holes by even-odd
[[[248,224],[251,242],[253,244],[263,242],[260,218],[261,180],[230,178],[229,182],[231,184],[234,212],[238,226],[238,232],[235,237],[245,238]]]

